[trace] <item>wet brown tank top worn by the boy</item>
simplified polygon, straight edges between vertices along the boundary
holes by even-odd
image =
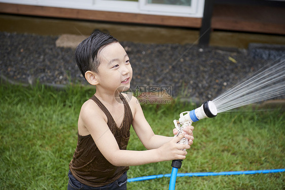
[[[124,96],[120,94],[124,103],[124,119],[120,126],[117,126],[111,113],[93,95],[90,99],[97,103],[108,118],[108,126],[115,136],[120,149],[126,149],[130,138],[130,126],[132,123],[132,112]],[[128,166],[117,167],[106,160],[97,148],[91,135],[81,136],[78,134],[77,147],[73,160],[69,163],[70,172],[81,183],[99,187],[116,181],[121,175],[129,169]]]

